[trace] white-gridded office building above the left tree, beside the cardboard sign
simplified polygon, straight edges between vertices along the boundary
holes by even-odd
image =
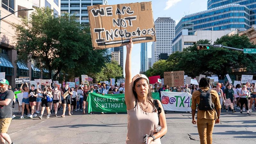
[[[61,0],[60,13],[75,14],[80,24],[89,23],[87,6],[104,4],[107,5],[107,0]]]

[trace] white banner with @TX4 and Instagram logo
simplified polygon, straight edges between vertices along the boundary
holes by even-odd
[[[161,101],[164,110],[191,111],[192,95],[188,92],[163,92]]]

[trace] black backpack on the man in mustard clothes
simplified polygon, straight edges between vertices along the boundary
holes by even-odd
[[[202,91],[201,89],[199,89],[198,91],[201,92],[198,105],[199,110],[213,110],[214,103],[212,103],[212,95],[210,93],[211,89],[209,89],[208,91]]]

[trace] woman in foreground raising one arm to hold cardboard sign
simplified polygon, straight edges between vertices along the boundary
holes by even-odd
[[[137,74],[132,78],[132,47],[130,40],[130,44],[126,45],[125,63],[124,98],[128,115],[126,144],[142,144],[146,134],[148,144],[160,144],[160,138],[167,132],[165,114],[161,113],[163,106],[159,100],[155,102],[152,99],[147,76]]]

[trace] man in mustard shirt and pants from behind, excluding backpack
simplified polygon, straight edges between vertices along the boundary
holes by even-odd
[[[202,91],[208,92],[210,89],[210,78],[203,77],[199,82],[199,87]],[[200,102],[200,91],[195,91],[192,94],[192,124],[197,124],[197,130],[200,138],[200,144],[212,144],[212,131],[214,124],[220,123],[220,99],[218,93],[214,90],[210,91],[212,97],[212,103],[215,109],[212,110],[200,110],[197,106]],[[197,108],[197,122],[195,119]],[[216,114],[217,112],[217,114]]]

